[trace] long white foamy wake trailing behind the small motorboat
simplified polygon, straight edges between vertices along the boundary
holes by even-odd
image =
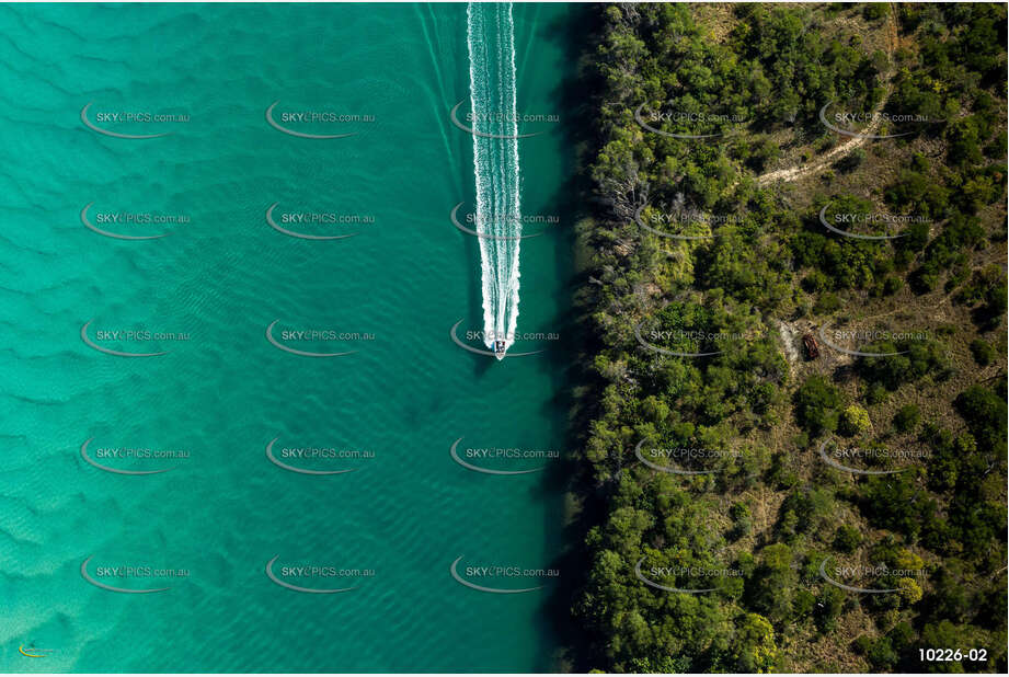
[[[521,236],[518,123],[515,114],[515,26],[512,3],[467,7],[477,232],[489,348],[515,340],[518,324],[518,238]],[[504,138],[502,138],[504,137]]]

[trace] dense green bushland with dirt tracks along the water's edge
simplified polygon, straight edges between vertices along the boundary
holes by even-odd
[[[597,11],[573,666],[1006,672],[1006,7]]]

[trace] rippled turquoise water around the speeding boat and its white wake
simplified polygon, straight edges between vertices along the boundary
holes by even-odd
[[[514,9],[518,108],[561,123],[570,11]],[[472,138],[448,114],[469,96],[466,5],[3,5],[0,26],[0,669],[553,667],[549,572],[466,566],[550,567],[560,496],[543,472],[483,474],[449,449],[563,444],[566,149],[553,123],[519,148],[524,213],[560,222],[523,242],[518,331],[559,337],[516,341],[551,349],[501,363],[468,353],[449,338],[462,320],[460,338],[484,347],[466,335],[482,326],[479,248],[449,219],[474,203]],[[89,102],[100,128],[171,134],[102,135],[82,123]],[[288,129],[354,136],[285,134],[266,122],[274,102]],[[283,234],[265,219],[275,203],[293,232],[356,234]],[[103,237],[87,205],[106,232],[167,237]],[[297,214],[353,222],[282,221]],[[353,353],[279,349],[275,321],[282,345]],[[167,353],[104,354],[85,323],[102,348]],[[351,335],[285,333],[305,330]],[[113,331],[139,334],[100,333]],[[354,471],[285,470],[273,439],[287,464]],[[107,468],[168,471],[102,470],[85,440]],[[104,451],[127,447],[172,454]],[[450,576],[459,556],[475,584],[547,587],[478,592]],[[274,558],[291,585],[354,589],[287,589],[266,576]],[[102,589],[85,560],[99,583],[170,589]],[[121,566],[135,571],[107,569]]]

